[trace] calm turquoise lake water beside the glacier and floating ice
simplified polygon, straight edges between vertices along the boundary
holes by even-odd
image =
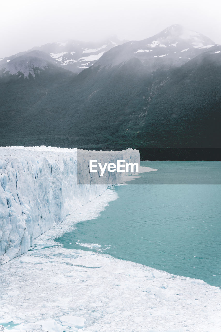
[[[221,287],[221,186],[215,184],[221,180],[221,162],[141,165],[159,171],[116,186],[119,198],[98,218],[77,223],[57,241]]]

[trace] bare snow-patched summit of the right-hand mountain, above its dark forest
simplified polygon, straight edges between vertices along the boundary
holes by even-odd
[[[114,47],[103,54],[96,65],[114,66],[138,58],[151,70],[166,64],[180,66],[214,45],[214,41],[204,35],[175,24],[153,37]]]

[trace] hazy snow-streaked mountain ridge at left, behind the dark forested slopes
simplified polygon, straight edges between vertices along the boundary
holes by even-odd
[[[29,61],[29,56],[34,56],[38,59],[31,59],[29,66],[40,67],[43,69],[46,65],[41,60],[53,62],[60,65],[64,69],[73,71],[74,73],[80,73],[83,69],[92,66],[96,60],[98,60],[105,52],[110,50],[116,45],[122,44],[124,41],[119,41],[117,37],[112,36],[110,39],[101,42],[84,42],[69,40],[66,42],[54,42],[48,43],[42,46],[36,46],[26,52],[20,52],[18,54],[0,59],[0,69],[6,69],[11,74],[17,73],[17,67],[21,70],[26,61]],[[21,58],[22,56],[22,58]],[[20,61],[22,60],[22,66]],[[17,64],[18,63],[18,64]],[[28,77],[28,73],[25,66],[24,74]]]

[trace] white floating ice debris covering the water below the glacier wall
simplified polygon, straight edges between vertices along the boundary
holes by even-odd
[[[114,187],[108,188],[33,239],[28,252],[0,266],[0,330],[221,330],[219,288],[54,241],[116,199]]]

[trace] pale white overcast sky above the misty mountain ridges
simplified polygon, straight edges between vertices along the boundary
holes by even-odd
[[[219,0],[1,0],[0,57],[48,42],[142,40],[172,24],[221,44]]]

